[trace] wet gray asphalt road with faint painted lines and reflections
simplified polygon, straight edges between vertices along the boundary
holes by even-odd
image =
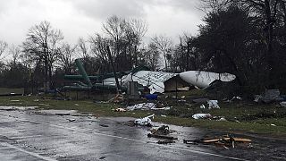
[[[129,120],[0,110],[0,160],[264,160],[241,156],[245,149],[232,154],[183,144],[206,133],[196,128],[170,126],[179,140],[159,145],[147,128],[123,124]]]

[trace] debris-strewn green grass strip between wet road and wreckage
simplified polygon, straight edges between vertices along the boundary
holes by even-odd
[[[19,101],[11,101],[19,100]],[[169,99],[169,103],[172,99]],[[255,132],[272,136],[286,137],[286,114],[282,107],[275,105],[249,105],[242,103],[219,103],[220,109],[200,109],[199,105],[188,102],[173,103],[168,111],[133,111],[117,113],[113,109],[126,107],[112,103],[97,103],[92,100],[55,100],[42,97],[0,97],[0,106],[39,106],[39,109],[78,110],[95,116],[128,116],[140,118],[156,114],[155,121],[181,126],[195,126],[228,132]],[[192,114],[209,113],[224,116],[228,122],[214,120],[194,120]],[[167,115],[167,117],[161,116]]]

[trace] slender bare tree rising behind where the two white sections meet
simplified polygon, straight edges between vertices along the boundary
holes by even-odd
[[[161,55],[164,56],[165,71],[168,71],[168,56],[172,51],[172,39],[164,35],[155,36],[152,41],[158,47]]]

